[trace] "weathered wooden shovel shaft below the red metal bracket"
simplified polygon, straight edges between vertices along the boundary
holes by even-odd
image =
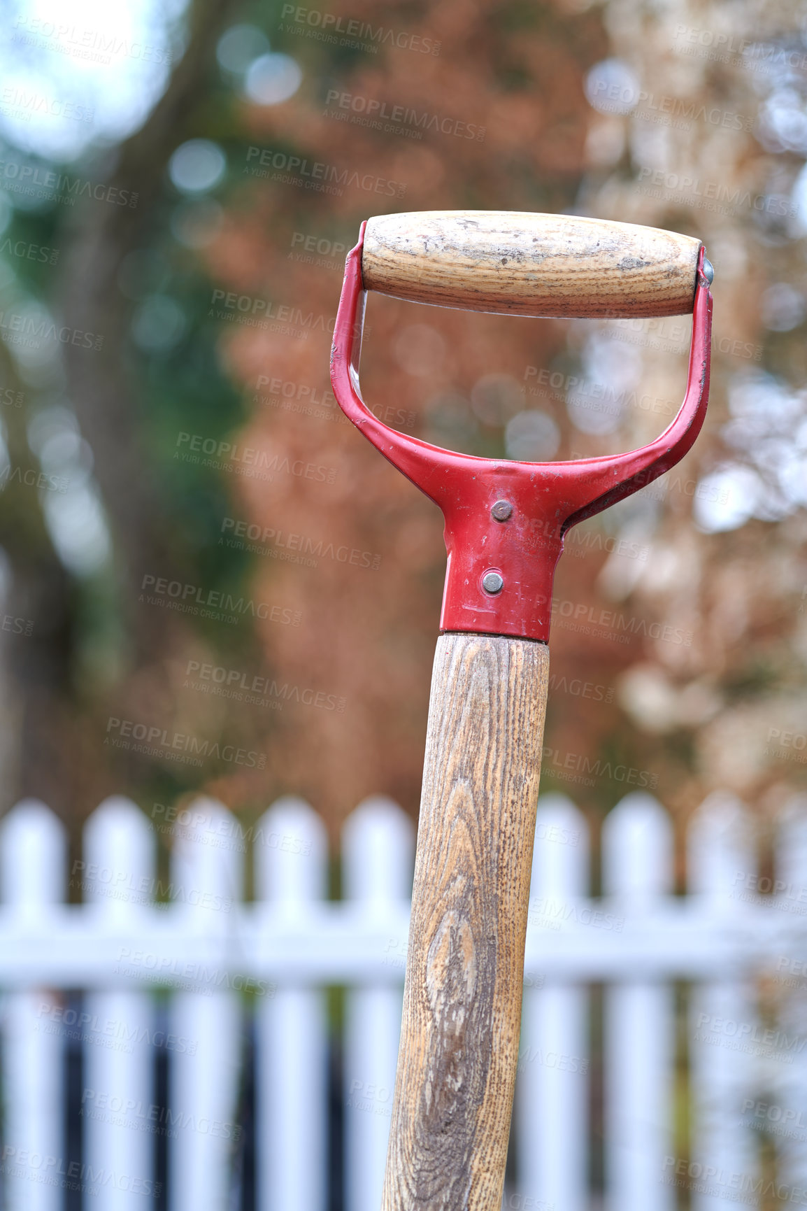
[[[434,655],[382,1211],[500,1211],[549,649]]]

